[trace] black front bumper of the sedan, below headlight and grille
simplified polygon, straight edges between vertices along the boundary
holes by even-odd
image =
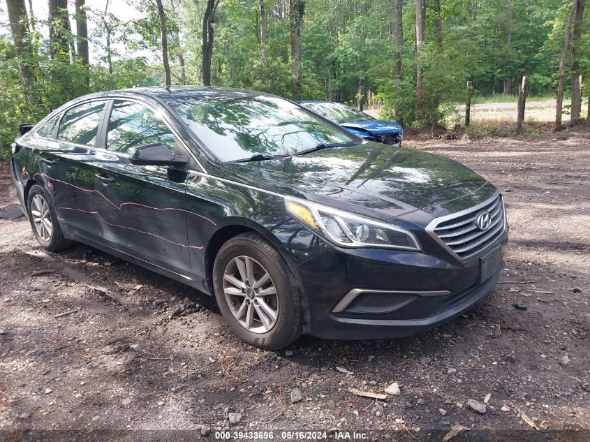
[[[302,290],[304,331],[325,339],[385,339],[451,321],[494,288],[507,243],[508,233],[465,262],[428,253],[334,247],[293,266]],[[494,272],[481,281],[480,260],[496,249]]]

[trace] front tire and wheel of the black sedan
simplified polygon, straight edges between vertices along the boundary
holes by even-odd
[[[221,314],[246,344],[279,350],[301,336],[299,289],[279,251],[259,235],[237,235],[221,246],[213,283]]]

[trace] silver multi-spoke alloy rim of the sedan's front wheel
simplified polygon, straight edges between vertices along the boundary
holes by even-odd
[[[270,274],[249,256],[236,256],[223,272],[223,293],[237,321],[253,333],[266,333],[279,316],[279,297]]]

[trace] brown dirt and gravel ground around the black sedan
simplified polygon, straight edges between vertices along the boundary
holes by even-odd
[[[464,431],[453,441],[589,440],[590,131],[554,136],[406,142],[499,186],[511,230],[503,283],[457,321],[397,341],[260,351],[206,295],[87,246],[45,254],[28,221],[0,220],[0,441],[163,434],[131,429],[441,441],[452,428]],[[13,205],[3,163],[0,211]],[[386,399],[349,391],[393,382]]]

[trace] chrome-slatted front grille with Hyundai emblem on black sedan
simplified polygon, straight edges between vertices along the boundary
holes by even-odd
[[[488,212],[489,227],[480,230],[475,223],[479,214]],[[465,260],[494,244],[506,231],[506,213],[500,195],[471,209],[434,219],[427,232],[457,258]]]

